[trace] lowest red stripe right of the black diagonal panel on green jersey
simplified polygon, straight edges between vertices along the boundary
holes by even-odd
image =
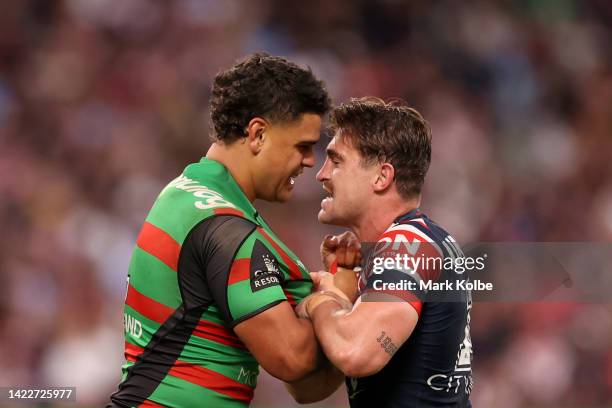
[[[242,402],[253,399],[253,388],[197,365],[177,361],[168,374]]]

